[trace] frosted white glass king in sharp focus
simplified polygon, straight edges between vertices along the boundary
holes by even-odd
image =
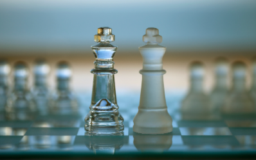
[[[162,58],[166,47],[158,45],[162,37],[156,28],[147,28],[143,35],[143,42],[147,45],[139,47],[143,57],[142,90],[140,106],[134,117],[133,131],[144,134],[163,134],[172,132],[172,118],[167,111],[165,89],[163,86]]]

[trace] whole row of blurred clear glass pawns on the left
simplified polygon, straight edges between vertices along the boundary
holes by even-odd
[[[34,83],[28,87],[29,71],[26,63],[18,61],[13,69],[14,85],[10,88],[11,67],[5,60],[0,61],[0,110],[6,111],[7,118],[27,119],[33,115],[50,113],[70,113],[78,109],[77,99],[69,87],[71,68],[61,61],[57,65],[57,88],[53,93],[48,88],[47,77],[50,67],[43,60],[37,60],[33,67]]]

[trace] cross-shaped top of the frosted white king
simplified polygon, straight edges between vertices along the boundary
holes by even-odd
[[[157,28],[147,28],[146,35],[143,35],[143,42],[149,45],[160,44],[163,38],[159,35]]]

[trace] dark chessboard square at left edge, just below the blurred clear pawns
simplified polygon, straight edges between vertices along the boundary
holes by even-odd
[[[33,124],[32,121],[1,121],[0,127],[18,127],[18,128],[28,128]]]

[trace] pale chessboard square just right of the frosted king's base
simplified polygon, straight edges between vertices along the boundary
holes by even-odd
[[[180,127],[181,135],[183,136],[214,136],[214,135],[232,135],[228,127]]]

